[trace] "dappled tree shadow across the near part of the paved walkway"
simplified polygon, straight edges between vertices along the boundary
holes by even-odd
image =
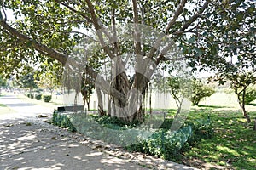
[[[2,123],[0,142],[0,169],[147,169],[56,136],[31,122]]]

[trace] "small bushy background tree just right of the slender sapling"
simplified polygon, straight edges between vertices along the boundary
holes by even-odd
[[[201,81],[194,80],[192,81],[192,96],[190,98],[193,105],[199,105],[201,99],[210,97],[214,94],[214,89],[207,87]]]

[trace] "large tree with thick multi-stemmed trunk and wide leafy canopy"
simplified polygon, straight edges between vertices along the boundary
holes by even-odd
[[[0,5],[3,74],[19,72],[24,64],[34,62],[57,60],[67,65],[68,56],[81,40],[86,45],[94,42],[101,49],[94,53],[86,46],[90,57],[85,58],[83,72],[90,75],[90,82],[97,79],[98,88],[111,97],[112,112],[119,112],[125,121],[142,119],[140,95],[162,63],[172,65],[172,60],[184,59],[194,70],[219,71],[229,68],[234,58],[235,65],[255,65],[253,0],[9,0]],[[14,12],[15,21],[9,20],[7,9]],[[119,37],[119,25],[126,26],[122,29],[130,41],[122,41],[124,35]],[[131,61],[141,71],[128,77],[125,59],[120,57],[124,54],[131,54]],[[113,77],[109,80],[99,76],[94,65],[88,66],[90,62],[104,65],[102,59],[112,62]],[[133,89],[139,93],[133,93]],[[136,108],[131,108],[135,105],[132,102],[137,103]]]

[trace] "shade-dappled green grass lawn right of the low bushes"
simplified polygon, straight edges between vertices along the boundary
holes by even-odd
[[[181,162],[207,169],[256,169],[256,132],[253,131],[256,107],[249,113],[252,123],[247,123],[240,111],[220,109],[207,105],[190,111],[190,120],[210,116],[214,136],[183,152]]]

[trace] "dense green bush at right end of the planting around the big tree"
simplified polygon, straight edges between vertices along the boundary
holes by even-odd
[[[185,122],[183,128],[175,133],[170,132],[172,119],[166,119],[149,139],[141,140],[139,144],[126,147],[127,150],[139,151],[163,159],[175,161],[178,154],[183,150],[188,150],[201,139],[209,139],[213,136],[212,123],[207,120],[197,120],[197,122]]]

